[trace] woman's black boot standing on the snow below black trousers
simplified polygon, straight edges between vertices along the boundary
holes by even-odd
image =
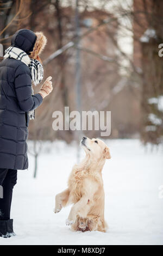
[[[0,236],[8,238],[14,235],[15,233],[13,231],[13,220],[10,219],[8,221],[0,221]]]

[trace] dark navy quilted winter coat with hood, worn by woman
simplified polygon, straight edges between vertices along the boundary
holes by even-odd
[[[27,53],[33,50],[36,36],[21,29],[11,45]],[[0,168],[27,169],[28,111],[42,103],[42,96],[32,96],[29,68],[20,60],[0,62]]]

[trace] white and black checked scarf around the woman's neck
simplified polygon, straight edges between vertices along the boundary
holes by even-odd
[[[43,79],[43,66],[37,59],[30,59],[28,54],[24,52],[23,50],[10,46],[5,50],[4,59],[7,58],[14,58],[17,60],[20,60],[21,62],[25,63],[27,66],[29,66],[30,69],[30,75],[32,78],[32,81],[34,85],[36,86],[39,84]],[[32,95],[34,95],[34,90],[32,88]],[[35,111],[29,111],[29,119],[32,120],[35,118]]]

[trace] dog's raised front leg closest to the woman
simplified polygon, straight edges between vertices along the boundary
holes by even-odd
[[[54,209],[55,214],[60,212],[62,207],[66,206],[69,195],[70,195],[70,190],[67,188],[66,190],[62,191],[61,193],[55,196],[55,209]]]

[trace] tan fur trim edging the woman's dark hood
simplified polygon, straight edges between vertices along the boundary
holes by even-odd
[[[32,59],[37,59],[37,57],[43,51],[47,43],[47,38],[45,35],[43,35],[42,32],[35,32],[35,35],[37,38],[33,47],[33,51],[30,52],[30,55],[29,55],[29,57]]]

